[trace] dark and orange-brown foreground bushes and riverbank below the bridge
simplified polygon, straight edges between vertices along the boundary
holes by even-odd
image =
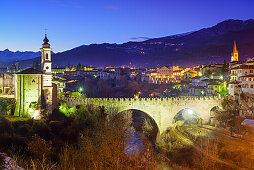
[[[10,156],[12,164],[35,170],[254,168],[251,134],[231,137],[228,128],[178,122],[158,137],[154,147],[147,138],[141,139],[142,145],[133,142],[128,112],[117,114],[114,108],[105,111],[93,105],[67,111],[55,110],[42,120],[2,116],[0,153]],[[221,115],[217,119],[223,127],[232,115]]]

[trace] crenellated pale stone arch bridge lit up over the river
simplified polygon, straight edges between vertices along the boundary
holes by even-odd
[[[211,118],[211,109],[221,107],[223,98],[219,97],[179,97],[179,98],[62,98],[69,107],[82,104],[104,106],[105,109],[115,107],[119,112],[140,110],[153,118],[163,133],[169,128],[174,117],[183,109],[192,109],[204,123]]]

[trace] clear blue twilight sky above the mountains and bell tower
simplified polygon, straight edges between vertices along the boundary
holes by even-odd
[[[0,50],[38,51],[45,28],[60,52],[250,18],[254,0],[0,0]]]

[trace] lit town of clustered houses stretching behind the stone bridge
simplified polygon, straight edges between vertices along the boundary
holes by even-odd
[[[241,57],[239,57],[241,58]],[[33,64],[38,69],[38,63]],[[14,95],[15,74],[22,71],[19,63],[10,68],[1,68],[0,92]],[[128,66],[96,68],[78,64],[51,69],[52,82],[60,93],[78,91],[88,97],[177,97],[177,96],[227,96],[237,98],[241,93],[254,94],[254,60],[241,61],[234,42],[231,62],[203,64],[189,68],[160,66],[134,68]],[[91,94],[89,84],[99,82],[101,86],[118,93],[98,96]],[[99,83],[100,84],[100,83]],[[104,87],[97,87],[104,88]],[[130,89],[131,88],[131,89]],[[131,95],[129,91],[131,90]],[[124,92],[128,91],[128,95]]]

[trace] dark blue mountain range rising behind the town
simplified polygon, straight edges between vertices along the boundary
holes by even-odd
[[[254,57],[254,19],[230,19],[209,28],[142,42],[81,45],[53,54],[52,60],[53,67],[78,63],[138,67],[222,63],[224,59],[230,60],[234,40],[240,60]],[[21,60],[20,65],[24,67],[31,66],[33,61],[40,61],[40,57],[36,57],[39,52],[16,52],[15,57],[8,57],[10,53],[13,52],[0,51],[2,66],[10,64],[12,59]]]

